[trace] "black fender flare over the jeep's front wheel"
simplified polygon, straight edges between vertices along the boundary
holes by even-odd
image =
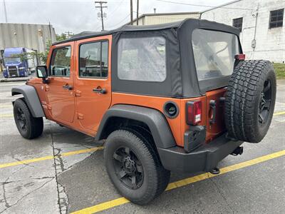
[[[22,94],[25,98],[28,109],[34,118],[44,117],[43,107],[41,106],[40,99],[38,98],[38,93],[33,86],[23,85],[15,86],[11,90],[12,96],[17,94]]]

